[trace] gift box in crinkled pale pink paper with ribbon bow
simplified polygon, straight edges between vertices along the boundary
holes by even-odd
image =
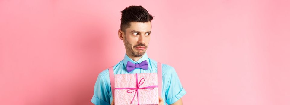
[[[158,105],[157,73],[116,74],[115,105]]]

